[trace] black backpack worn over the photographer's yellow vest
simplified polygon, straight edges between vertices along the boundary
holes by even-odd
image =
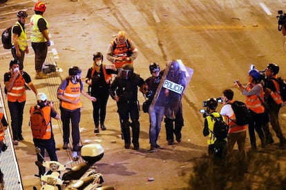
[[[211,118],[215,120],[215,123],[213,124],[213,131],[211,131],[213,136],[215,136],[217,140],[223,140],[227,138],[227,134],[229,133],[229,125],[225,123],[222,115],[216,117],[211,114]]]

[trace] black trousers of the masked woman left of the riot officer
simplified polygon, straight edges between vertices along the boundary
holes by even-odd
[[[95,127],[98,127],[99,125],[99,118],[100,125],[104,125],[108,96],[108,92],[103,92],[99,96],[95,96],[95,98],[97,99],[97,101],[93,102],[93,121],[95,123]]]

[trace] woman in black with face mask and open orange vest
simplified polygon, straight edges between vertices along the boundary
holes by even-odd
[[[118,71],[114,64],[105,65],[103,63],[103,55],[101,52],[93,54],[93,66],[88,69],[86,74],[86,83],[88,84],[88,94],[97,99],[93,102],[93,121],[95,123],[95,133],[106,130],[104,125],[106,116],[106,104],[109,97],[108,89],[111,85],[112,74],[117,74]]]

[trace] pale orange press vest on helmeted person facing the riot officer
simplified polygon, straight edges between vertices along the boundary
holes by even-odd
[[[77,108],[82,107],[82,101],[80,101],[80,95],[81,95],[81,85],[82,81],[77,82],[76,84],[73,84],[71,81],[69,81],[68,85],[66,86],[66,89],[62,93],[65,98],[70,99],[71,101],[77,101],[77,103],[68,103],[66,101],[61,101],[61,107],[69,110],[75,110]],[[61,91],[61,89],[59,89]],[[60,92],[59,91],[59,92]]]

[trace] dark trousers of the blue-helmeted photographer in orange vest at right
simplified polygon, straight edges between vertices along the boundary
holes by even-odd
[[[261,127],[264,114],[263,113],[262,114],[256,114],[251,109],[249,109],[249,112],[251,113],[251,116],[253,118],[248,125],[251,147],[256,149],[256,137],[255,137],[254,130],[257,132],[257,134],[261,140],[261,146],[264,147],[265,143],[266,143],[265,142],[265,134],[264,134],[263,128]]]

